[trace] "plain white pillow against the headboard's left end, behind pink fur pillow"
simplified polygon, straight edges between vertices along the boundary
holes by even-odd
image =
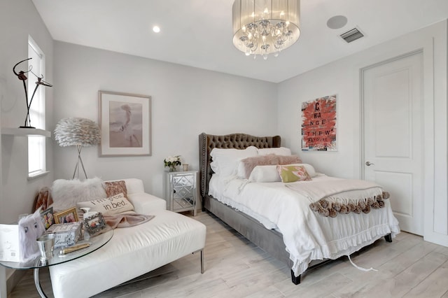
[[[237,174],[238,162],[246,157],[258,155],[258,148],[249,146],[246,149],[235,148],[214,148],[210,152],[212,162],[211,169],[222,177]]]

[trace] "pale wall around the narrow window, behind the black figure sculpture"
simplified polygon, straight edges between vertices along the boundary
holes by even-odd
[[[19,127],[25,122],[27,107],[22,82],[13,73],[13,66],[28,58],[28,35],[46,55],[45,80],[52,82],[53,41],[33,3],[29,0],[1,1],[0,4],[0,122],[1,127]],[[25,68],[26,68],[25,64]],[[23,69],[20,69],[23,70]],[[52,126],[52,89],[46,91],[47,127]],[[41,178],[27,180],[27,138],[1,136],[0,223],[18,220],[21,213],[30,213],[36,192],[53,180],[52,146],[47,141],[47,169]],[[6,297],[5,278],[12,274],[0,269],[0,297]]]

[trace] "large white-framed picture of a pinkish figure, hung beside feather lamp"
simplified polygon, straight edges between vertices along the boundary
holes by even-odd
[[[99,91],[99,156],[151,155],[151,97]]]

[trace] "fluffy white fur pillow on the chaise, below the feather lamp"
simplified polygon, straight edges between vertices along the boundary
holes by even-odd
[[[55,180],[51,187],[53,212],[64,211],[76,206],[78,201],[92,201],[106,197],[103,181],[98,178],[86,180]]]

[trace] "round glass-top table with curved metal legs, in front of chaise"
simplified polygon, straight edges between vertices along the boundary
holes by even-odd
[[[41,261],[41,257],[36,257],[34,260],[29,260],[28,262],[6,262],[0,261],[0,264],[4,267],[12,268],[12,269],[34,269],[34,284],[36,285],[37,292],[41,297],[47,298],[45,293],[41,288],[41,281],[39,280],[39,269],[55,266],[57,264],[62,264],[65,262],[70,262],[72,260],[76,260],[80,257],[93,253],[98,248],[104,246],[104,244],[108,243],[113,236],[113,229],[110,227],[106,228],[105,232],[94,236],[87,240],[78,241],[76,245],[82,243],[90,243],[90,246],[87,248],[82,248],[80,250],[76,250],[73,253],[67,253],[66,255],[61,255],[60,251],[62,248],[55,248],[53,252],[53,257],[48,261]]]

